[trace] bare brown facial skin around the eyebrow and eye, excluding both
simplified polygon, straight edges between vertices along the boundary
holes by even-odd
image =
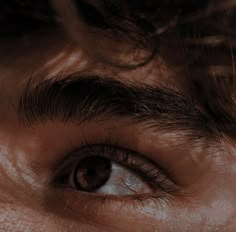
[[[19,96],[29,78],[45,78],[45,70],[49,73],[46,78],[94,72],[119,74],[124,82],[135,76],[134,82],[179,86],[176,70],[170,71],[160,58],[132,71],[111,69],[92,60],[61,32],[0,44],[0,231],[236,230],[235,144],[226,138],[219,141],[223,148],[219,150],[181,144],[175,133],[158,134],[127,126],[124,120],[84,125],[48,122],[34,127],[19,124]],[[64,151],[78,146],[82,135],[93,140],[103,134],[120,138],[120,144],[168,167],[183,186],[180,193],[156,200],[118,197],[103,201],[52,187],[54,166]]]

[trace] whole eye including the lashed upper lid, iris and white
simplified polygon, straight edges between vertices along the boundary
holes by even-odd
[[[56,182],[78,191],[105,195],[153,194],[176,185],[151,160],[125,148],[100,144],[69,155]]]

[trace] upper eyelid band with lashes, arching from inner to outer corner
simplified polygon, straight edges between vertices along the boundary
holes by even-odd
[[[117,140],[110,137],[100,139],[99,142],[93,144],[84,139],[80,147],[71,152],[63,161],[54,183],[66,187],[65,183],[76,164],[85,157],[97,156],[97,154],[130,169],[146,181],[155,192],[171,193],[177,190],[177,185],[156,163],[136,151],[121,147]]]

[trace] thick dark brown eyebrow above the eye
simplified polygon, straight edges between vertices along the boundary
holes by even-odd
[[[20,121],[85,122],[127,118],[159,129],[209,133],[204,115],[183,95],[169,88],[124,84],[98,76],[29,81],[20,98]]]

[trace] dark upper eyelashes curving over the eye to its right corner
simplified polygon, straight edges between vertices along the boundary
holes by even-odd
[[[113,162],[119,163],[119,161],[117,160],[117,158],[119,157],[121,165],[131,169],[131,171],[138,174],[144,181],[147,181],[151,186],[155,186],[156,188],[158,187],[166,193],[173,192],[177,189],[176,183],[170,180],[168,175],[156,163],[136,151],[121,147],[118,144],[118,140],[111,137],[100,138],[99,142],[96,142],[94,144],[89,143],[84,138],[80,147],[71,152],[69,156],[67,156],[67,158],[65,159],[66,165],[62,169],[66,170],[68,163],[71,163],[72,160],[74,161],[74,159],[76,159],[76,161],[78,161],[79,151],[86,149],[88,153],[92,154],[94,152],[95,147],[99,148],[99,152],[101,154],[109,154],[109,156],[104,155],[104,157],[110,158]],[[132,163],[133,160],[131,160],[130,154],[133,154],[135,157],[137,157],[136,161],[143,160],[144,163]],[[149,164],[149,167],[148,165],[146,165],[145,168],[145,162]],[[153,167],[150,168],[150,166]]]

